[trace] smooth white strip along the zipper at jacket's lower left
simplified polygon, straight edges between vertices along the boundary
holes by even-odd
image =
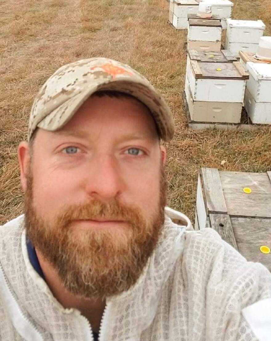
[[[4,273],[3,266],[0,263],[0,282],[2,282],[2,302],[10,313],[12,324],[22,338],[28,341],[44,341],[41,333],[36,326],[28,320],[27,316],[21,311],[9,281]],[[18,316],[19,315],[19,316]],[[20,321],[22,320],[22,321]],[[25,328],[23,325],[28,325]]]

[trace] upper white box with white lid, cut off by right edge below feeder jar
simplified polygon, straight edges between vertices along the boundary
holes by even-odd
[[[271,64],[246,63],[250,75],[247,88],[255,102],[271,102]]]

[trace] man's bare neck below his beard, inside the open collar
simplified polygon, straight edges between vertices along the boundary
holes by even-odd
[[[48,263],[43,255],[36,250],[39,264],[42,268],[45,280],[54,297],[64,308],[78,309],[89,320],[94,332],[98,332],[101,323],[105,300],[101,298],[84,298],[69,292],[62,284],[57,271]]]

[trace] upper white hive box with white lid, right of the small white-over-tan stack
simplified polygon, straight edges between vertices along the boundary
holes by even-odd
[[[265,30],[261,20],[227,19],[226,37],[229,43],[259,44]]]

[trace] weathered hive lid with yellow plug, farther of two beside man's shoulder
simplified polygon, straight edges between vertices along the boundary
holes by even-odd
[[[271,218],[271,172],[225,172],[201,168],[201,178],[207,214]],[[250,188],[251,193],[246,194],[244,188]]]

